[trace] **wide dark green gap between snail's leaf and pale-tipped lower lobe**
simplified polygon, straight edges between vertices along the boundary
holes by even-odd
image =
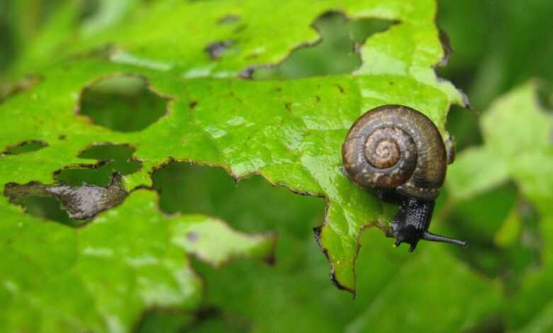
[[[221,168],[169,162],[154,172],[152,180],[164,212],[216,216],[246,232],[286,227],[313,239],[311,227],[323,220],[322,198],[273,187],[261,176],[237,184]]]

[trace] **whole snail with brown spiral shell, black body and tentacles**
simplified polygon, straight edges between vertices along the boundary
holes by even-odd
[[[448,142],[451,143],[451,142]],[[350,179],[384,201],[400,204],[391,223],[395,246],[420,239],[467,246],[467,242],[428,231],[435,199],[445,181],[452,145],[446,145],[432,120],[413,108],[386,105],[364,113],[342,145]]]

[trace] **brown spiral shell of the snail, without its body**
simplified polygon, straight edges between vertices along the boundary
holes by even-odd
[[[342,159],[362,188],[432,201],[445,181],[447,152],[432,120],[407,106],[374,108],[350,128]]]

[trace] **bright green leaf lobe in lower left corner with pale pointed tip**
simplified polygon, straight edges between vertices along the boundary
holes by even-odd
[[[127,331],[152,307],[199,306],[201,281],[184,252],[215,266],[272,256],[273,237],[243,235],[203,215],[167,218],[155,202],[151,191],[134,191],[81,229],[4,203],[3,330]]]

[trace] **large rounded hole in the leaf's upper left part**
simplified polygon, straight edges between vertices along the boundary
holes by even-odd
[[[141,77],[110,77],[83,89],[80,113],[111,130],[134,132],[165,115],[167,103]]]

